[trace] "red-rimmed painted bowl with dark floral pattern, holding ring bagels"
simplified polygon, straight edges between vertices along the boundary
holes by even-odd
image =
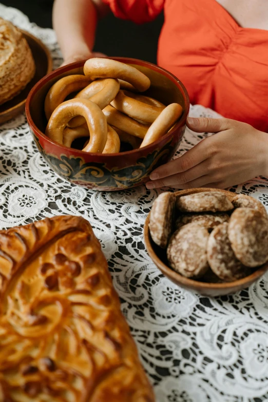
[[[49,88],[66,75],[83,74],[86,60],[60,67],[48,74],[34,86],[26,102],[26,117],[33,139],[49,166],[63,179],[99,191],[124,190],[148,181],[153,169],[173,158],[183,138],[189,111],[187,91],[173,74],[141,60],[111,59],[135,66],[149,77],[151,86],[144,94],[164,104],[177,102],[182,105],[180,120],[158,141],[118,154],[96,154],[67,148],[45,135],[47,120],[44,101]]]

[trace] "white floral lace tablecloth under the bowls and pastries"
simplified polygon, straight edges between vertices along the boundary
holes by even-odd
[[[55,33],[0,4],[0,16],[39,37],[61,63]],[[191,116],[218,117],[202,106]],[[180,152],[205,134],[186,130]],[[232,188],[268,205],[268,181]],[[162,276],[148,257],[143,223],[160,190],[98,193],[55,176],[35,148],[26,118],[0,126],[0,227],[55,215],[91,223],[109,261],[122,311],[158,402],[268,401],[267,279],[233,296],[199,297]]]

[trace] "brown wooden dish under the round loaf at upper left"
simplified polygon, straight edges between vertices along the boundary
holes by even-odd
[[[36,70],[33,79],[22,92],[10,101],[0,105],[0,124],[13,119],[17,114],[24,111],[26,98],[32,87],[41,80],[44,75],[52,71],[52,58],[48,48],[29,32],[21,31],[32,51]]]

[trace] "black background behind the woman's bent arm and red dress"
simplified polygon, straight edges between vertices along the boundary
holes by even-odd
[[[52,28],[53,0],[0,0],[0,2],[21,10],[31,22],[40,27]],[[128,56],[156,63],[157,42],[162,24],[163,15],[152,23],[135,25],[129,21],[118,20],[110,13],[98,25],[95,50],[109,56]]]

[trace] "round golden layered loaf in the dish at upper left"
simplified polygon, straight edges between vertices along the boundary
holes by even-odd
[[[34,72],[32,53],[22,32],[0,18],[0,105],[20,93]]]

